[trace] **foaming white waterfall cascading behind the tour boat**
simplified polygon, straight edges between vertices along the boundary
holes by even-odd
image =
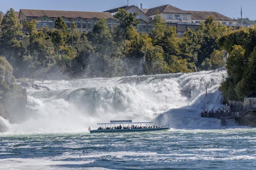
[[[27,87],[26,121],[9,125],[10,132],[85,131],[111,119],[156,121],[176,128],[220,127],[217,119],[200,118],[218,109],[225,69],[152,76],[35,81]],[[164,113],[164,114],[162,114]],[[21,114],[21,113],[17,113]]]

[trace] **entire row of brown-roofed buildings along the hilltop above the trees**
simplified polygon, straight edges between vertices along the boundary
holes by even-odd
[[[151,34],[155,25],[154,17],[157,13],[163,17],[167,26],[176,27],[178,36],[182,36],[188,29],[195,30],[198,25],[205,21],[209,16],[213,16],[216,21],[223,25],[237,26],[237,21],[217,12],[188,11],[176,8],[169,4],[149,9],[142,8],[142,4],[140,4],[140,8],[134,5],[119,8],[125,9],[128,13],[137,12],[137,18],[140,21],[137,26],[137,32],[140,34]],[[104,12],[20,9],[20,11],[15,12],[15,14],[18,17],[20,24],[32,19],[37,20],[38,30],[42,27],[48,27],[49,30],[54,29],[55,19],[57,17],[62,17],[69,28],[71,22],[73,22],[78,31],[88,33],[92,31],[93,26],[100,18],[105,18],[107,20],[110,29],[113,29],[114,26],[118,25],[118,20],[114,19],[113,15],[117,13],[119,8],[110,9]],[[23,31],[26,31],[26,28],[23,27]]]

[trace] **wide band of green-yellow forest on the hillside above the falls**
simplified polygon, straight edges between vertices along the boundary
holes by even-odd
[[[37,21],[25,22],[27,33],[11,8],[0,25],[0,55],[13,67],[15,77],[112,77],[192,72],[223,67],[225,51],[217,40],[229,33],[209,17],[196,31],[176,37],[157,15],[152,35],[138,34],[135,14],[120,9],[119,25],[110,30],[101,19],[92,33],[81,33],[74,23],[69,29],[61,17],[54,30],[37,30]]]

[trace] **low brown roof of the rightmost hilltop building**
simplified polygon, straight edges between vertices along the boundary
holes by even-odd
[[[225,20],[225,21],[233,21],[229,17],[226,17],[218,12],[210,12],[210,11],[186,11],[191,14],[192,19],[205,20],[209,16],[213,16],[215,20]]]

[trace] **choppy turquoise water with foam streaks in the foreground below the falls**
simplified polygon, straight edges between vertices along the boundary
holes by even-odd
[[[256,129],[2,133],[0,169],[253,170]]]

